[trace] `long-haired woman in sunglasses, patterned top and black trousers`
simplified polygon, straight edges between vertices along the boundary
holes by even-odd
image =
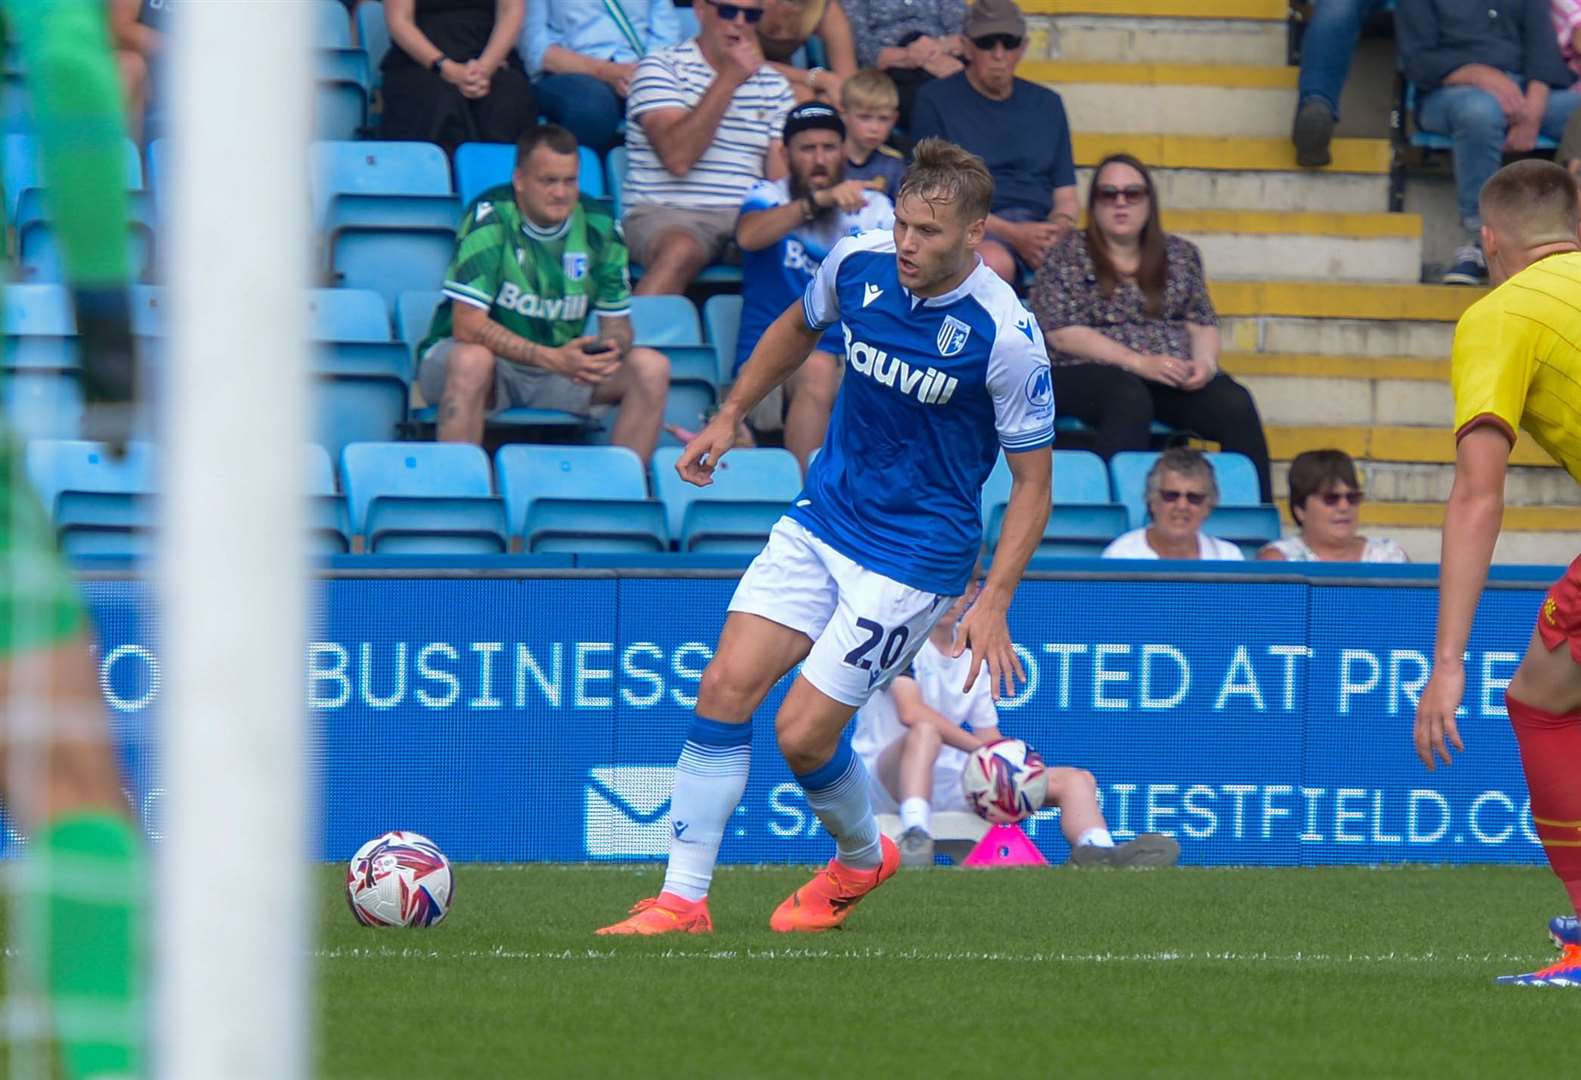
[[[1154,419],[1246,454],[1273,501],[1268,440],[1244,386],[1219,372],[1219,318],[1197,245],[1159,225],[1153,177],[1129,153],[1099,163],[1088,226],[1032,281],[1059,411],[1097,429],[1105,459],[1145,451]]]

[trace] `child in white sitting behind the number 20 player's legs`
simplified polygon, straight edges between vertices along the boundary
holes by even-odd
[[[955,601],[911,667],[857,713],[851,750],[868,768],[873,811],[900,813],[903,867],[933,865],[933,811],[971,813],[961,768],[972,750],[1001,737],[988,685],[977,680],[961,691],[971,655],[950,656],[955,625],[974,595]],[[1097,806],[1097,780],[1086,768],[1050,768],[1043,805],[1059,806],[1072,867],[1173,867],[1179,860],[1179,843],[1162,833],[1116,844]]]

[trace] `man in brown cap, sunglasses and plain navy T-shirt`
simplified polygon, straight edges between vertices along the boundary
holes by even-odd
[[[961,38],[966,70],[922,89],[911,134],[942,136],[988,166],[993,212],[977,253],[1013,285],[1075,228],[1070,125],[1058,93],[1015,77],[1026,52],[1026,19],[1015,0],[977,0]]]

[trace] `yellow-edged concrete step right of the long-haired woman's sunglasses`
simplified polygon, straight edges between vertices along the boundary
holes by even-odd
[[[1194,240],[1217,280],[1413,283],[1421,218],[1413,213],[1164,210],[1164,228]]]

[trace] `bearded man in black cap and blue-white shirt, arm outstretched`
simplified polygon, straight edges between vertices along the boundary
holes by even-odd
[[[790,174],[759,180],[741,204],[735,242],[741,248],[741,329],[735,342],[735,370],[751,356],[757,338],[806,291],[813,274],[835,242],[868,229],[890,229],[895,207],[862,180],[846,180],[846,125],[827,104],[809,101],[786,117],[786,157]],[[770,395],[768,410],[754,411],[759,430],[784,417],[786,449],[802,468],[824,443],[828,413],[840,389],[840,324],[830,326],[808,362],[786,383],[789,405]]]

